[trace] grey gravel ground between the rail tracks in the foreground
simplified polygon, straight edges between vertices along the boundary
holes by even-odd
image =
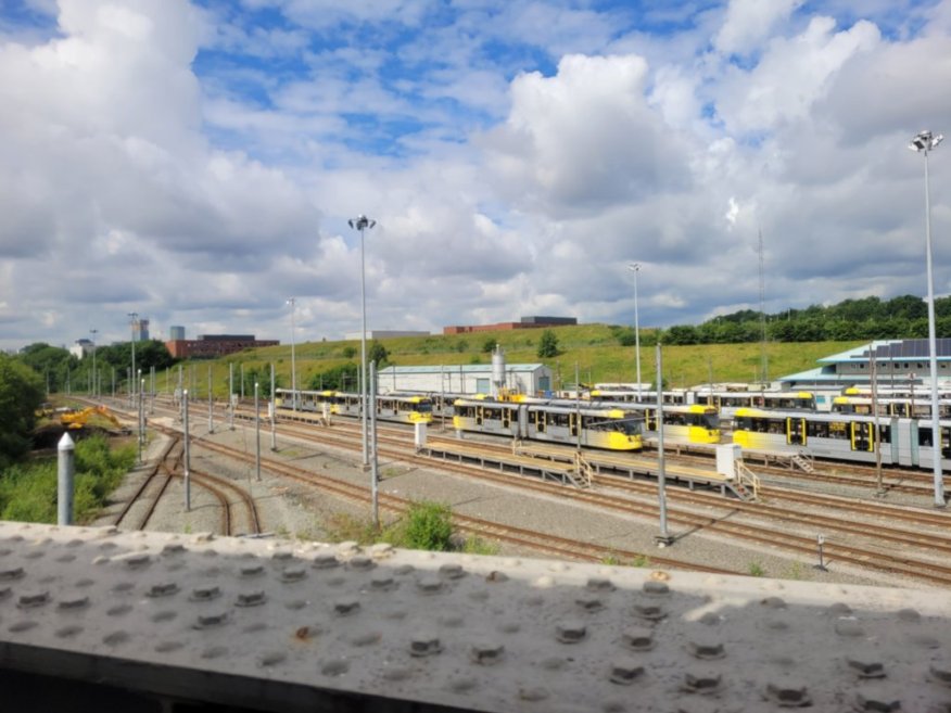
[[[155,418],[153,422],[172,425],[172,420],[168,418]],[[262,480],[257,481],[253,464],[228,461],[201,447],[201,441],[207,438],[253,456],[255,453],[253,429],[241,423],[236,423],[236,426],[233,431],[228,430],[227,426],[219,426],[214,434],[207,434],[206,426],[200,430],[193,428],[191,464],[195,470],[226,476],[236,484],[249,488],[257,501],[262,525],[267,533],[276,537],[333,540],[341,537],[341,519],[369,521],[370,513],[362,505],[270,474],[266,468],[262,469]],[[126,482],[115,493],[116,504],[103,512],[96,524],[114,522],[115,512],[121,508],[122,501],[131,497],[137,483],[145,476],[148,463],[160,457],[167,437],[155,431],[151,434],[152,438],[145,453],[147,466],[129,473]],[[263,430],[261,438],[262,458],[279,458],[320,474],[354,483],[368,483],[369,474],[363,471],[358,450],[344,451],[279,434],[278,449],[271,451],[269,431]],[[836,562],[827,562],[827,571],[820,571],[814,566],[817,558],[802,559],[774,548],[738,544],[734,538],[724,538],[703,530],[677,531],[672,527],[671,534],[676,537],[676,543],[669,548],[659,549],[654,540],[659,532],[656,521],[620,517],[567,499],[531,495],[520,489],[467,479],[441,471],[435,462],[432,468],[419,468],[416,464],[381,459],[379,472],[382,476],[381,492],[413,499],[446,502],[454,512],[460,514],[561,537],[573,537],[605,547],[616,547],[619,550],[638,551],[648,558],[657,553],[684,562],[732,569],[757,576],[824,583],[909,586],[906,581],[899,577],[863,573]],[[191,509],[186,511],[183,483],[181,479],[176,479],[156,508],[148,529],[164,532],[217,533],[220,530],[217,501],[203,488],[193,485]],[[537,552],[520,550],[505,544],[499,546],[499,553],[540,557]],[[913,584],[913,586],[921,585]]]

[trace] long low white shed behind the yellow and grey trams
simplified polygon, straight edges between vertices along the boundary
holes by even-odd
[[[551,391],[551,369],[544,364],[505,365],[504,387],[521,394],[544,395]],[[432,392],[445,394],[492,393],[492,365],[434,365],[380,369],[380,393]]]

